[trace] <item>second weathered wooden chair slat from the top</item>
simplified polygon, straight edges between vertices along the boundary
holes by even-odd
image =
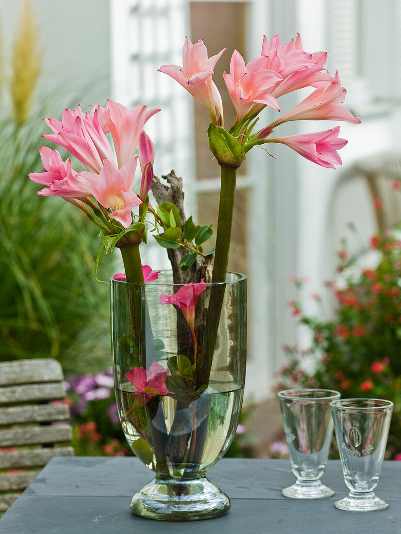
[[[57,400],[64,397],[65,388],[61,382],[0,388],[0,404]]]

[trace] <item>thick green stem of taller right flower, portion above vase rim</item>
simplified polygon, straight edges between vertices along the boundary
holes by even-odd
[[[216,251],[212,282],[224,282],[227,273],[237,169],[222,165],[221,174],[222,179],[220,186],[220,203],[218,207]]]

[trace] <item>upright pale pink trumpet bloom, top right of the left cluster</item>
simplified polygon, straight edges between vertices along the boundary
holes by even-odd
[[[113,100],[107,100],[104,121],[112,134],[119,168],[132,158],[144,125],[159,111],[159,108],[147,110],[143,105],[128,109]]]

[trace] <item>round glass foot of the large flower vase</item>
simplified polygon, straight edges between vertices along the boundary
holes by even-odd
[[[206,476],[193,480],[155,478],[131,500],[140,517],[164,521],[196,521],[226,514],[230,499]]]

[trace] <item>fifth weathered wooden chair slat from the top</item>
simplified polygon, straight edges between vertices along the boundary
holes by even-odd
[[[1,469],[43,467],[56,456],[74,456],[73,447],[46,447],[45,449],[20,449],[0,454]]]

